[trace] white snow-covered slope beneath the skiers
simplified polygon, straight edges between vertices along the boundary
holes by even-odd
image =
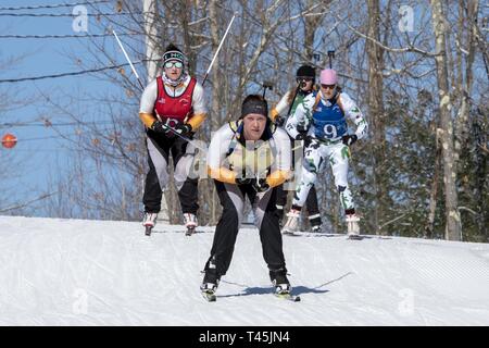
[[[284,237],[301,302],[271,295],[241,229],[217,302],[199,293],[212,227],[0,216],[1,325],[489,325],[489,245]]]

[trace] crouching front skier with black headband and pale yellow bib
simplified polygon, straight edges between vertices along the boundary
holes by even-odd
[[[260,233],[263,258],[277,295],[290,293],[283,252],[276,188],[290,176],[290,140],[272,123],[266,100],[250,95],[238,121],[223,125],[212,137],[208,172],[223,206],[201,290],[213,296],[233,258],[248,196]]]

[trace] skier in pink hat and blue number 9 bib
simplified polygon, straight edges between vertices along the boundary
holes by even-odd
[[[305,150],[300,181],[283,233],[296,232],[309,189],[328,162],[344,209],[348,236],[356,238],[360,234],[360,219],[347,181],[348,166],[350,146],[367,135],[368,124],[356,103],[338,87],[338,74],[335,70],[323,70],[319,82],[319,91],[308,96],[286,124],[286,130],[292,138],[304,140]],[[356,125],[354,133],[349,133],[347,119]],[[298,130],[304,127],[308,128],[306,133]]]

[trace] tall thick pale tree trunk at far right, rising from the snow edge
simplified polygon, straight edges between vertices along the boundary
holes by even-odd
[[[461,240],[462,225],[457,210],[455,154],[453,123],[451,117],[449,76],[447,71],[446,27],[442,1],[431,0],[432,26],[435,30],[436,67],[440,103],[441,157],[443,161],[444,208],[447,215],[446,239]]]

